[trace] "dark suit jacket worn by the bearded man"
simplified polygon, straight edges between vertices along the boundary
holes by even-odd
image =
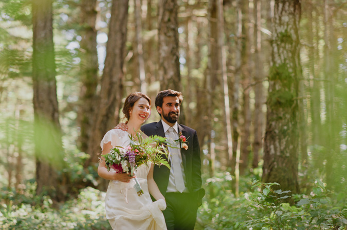
[[[165,137],[164,129],[162,127],[161,120],[159,122],[153,122],[144,124],[141,127],[142,132],[147,136],[158,135]],[[187,187],[190,193],[196,193],[196,197],[201,203],[202,198],[205,195],[205,190],[201,188],[202,177],[201,177],[201,159],[200,159],[200,146],[197,139],[196,131],[178,124],[178,132],[182,133],[187,138],[188,149],[180,149],[182,155],[183,166],[186,174]],[[159,190],[163,196],[166,195],[168,182],[170,176],[170,169],[161,165],[154,166],[153,177],[157,183]]]

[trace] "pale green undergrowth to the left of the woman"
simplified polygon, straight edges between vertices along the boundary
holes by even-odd
[[[13,194],[12,194],[13,195]],[[38,199],[39,196],[26,194]],[[7,204],[0,206],[0,229],[6,230],[111,230],[105,219],[105,193],[87,187],[76,199],[52,207],[52,200],[43,196],[42,205],[30,199],[23,200],[17,194]]]

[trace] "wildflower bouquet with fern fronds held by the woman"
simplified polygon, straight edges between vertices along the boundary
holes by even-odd
[[[136,133],[135,137],[130,136],[130,143],[126,147],[115,147],[109,153],[103,155],[107,170],[115,169],[118,173],[130,173],[132,176],[141,164],[149,162],[157,165],[165,165],[170,169],[168,161],[163,156],[168,157],[168,152],[162,144],[168,142],[165,137],[151,136],[142,138]],[[138,196],[143,194],[141,186],[135,179],[135,190]]]

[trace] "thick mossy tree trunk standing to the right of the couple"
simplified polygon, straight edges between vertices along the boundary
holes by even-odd
[[[301,76],[299,0],[276,0],[264,139],[263,182],[299,193],[298,87]]]

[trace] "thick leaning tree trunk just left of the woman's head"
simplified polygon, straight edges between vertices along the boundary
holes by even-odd
[[[123,62],[126,41],[126,25],[129,1],[113,0],[106,46],[105,67],[101,78],[101,90],[96,104],[95,123],[89,138],[86,166],[98,162],[100,141],[105,133],[119,121],[123,96]]]

